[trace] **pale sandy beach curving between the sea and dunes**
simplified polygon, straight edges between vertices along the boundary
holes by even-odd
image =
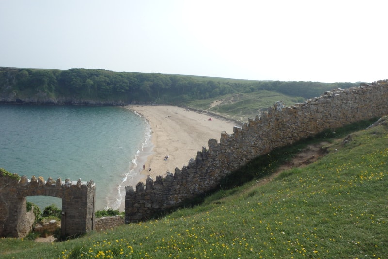
[[[221,132],[231,134],[236,125],[175,106],[131,105],[129,108],[144,116],[151,127],[152,153],[140,165],[144,181],[147,175],[155,180],[158,175],[165,177],[167,171],[174,173],[176,167],[181,169],[202,147],[208,148],[210,138],[219,142]]]

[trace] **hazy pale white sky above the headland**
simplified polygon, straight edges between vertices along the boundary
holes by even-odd
[[[0,0],[0,66],[388,78],[385,0]]]

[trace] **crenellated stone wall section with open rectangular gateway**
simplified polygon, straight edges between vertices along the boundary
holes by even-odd
[[[93,230],[95,184],[93,181],[54,181],[32,176],[0,174],[0,237],[22,237],[26,232],[26,197],[44,195],[62,199],[61,235],[70,237]]]

